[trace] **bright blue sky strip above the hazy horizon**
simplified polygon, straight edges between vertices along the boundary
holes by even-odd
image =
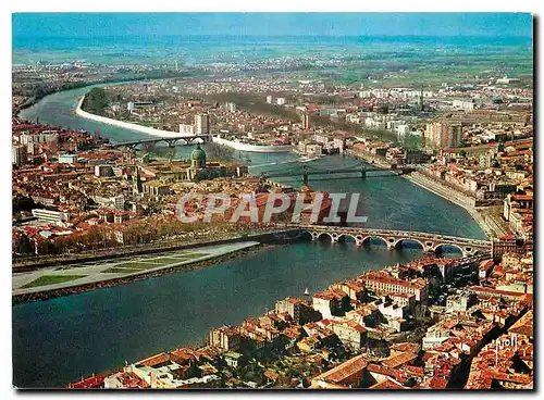
[[[527,13],[18,13],[14,36],[532,36]]]

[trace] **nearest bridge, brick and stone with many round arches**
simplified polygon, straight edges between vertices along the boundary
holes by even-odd
[[[430,234],[412,230],[392,229],[369,229],[360,227],[326,226],[326,225],[294,225],[298,226],[301,234],[308,233],[312,240],[319,239],[322,235],[327,235],[332,242],[337,242],[341,238],[349,236],[357,246],[362,246],[371,238],[379,238],[385,242],[388,249],[395,249],[404,240],[418,242],[424,252],[436,252],[444,246],[456,247],[463,257],[473,255],[479,251],[490,251],[490,240],[479,240],[441,234]]]

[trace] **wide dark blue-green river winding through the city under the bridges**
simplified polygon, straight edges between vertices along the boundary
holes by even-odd
[[[63,127],[98,130],[112,140],[146,135],[84,120],[74,114],[88,88],[46,97],[21,117]],[[177,148],[188,154],[189,147]],[[237,154],[238,155],[238,154]],[[305,165],[294,154],[240,154],[252,172]],[[314,168],[354,165],[331,157],[307,163]],[[300,178],[279,178],[293,186]],[[312,179],[318,190],[359,192],[368,226],[435,232],[484,239],[461,208],[401,177],[361,180]],[[249,253],[199,271],[13,307],[13,383],[17,387],[62,387],[146,355],[202,343],[214,326],[238,324],[263,313],[277,299],[325,288],[336,279],[420,257],[413,248],[302,242]]]

